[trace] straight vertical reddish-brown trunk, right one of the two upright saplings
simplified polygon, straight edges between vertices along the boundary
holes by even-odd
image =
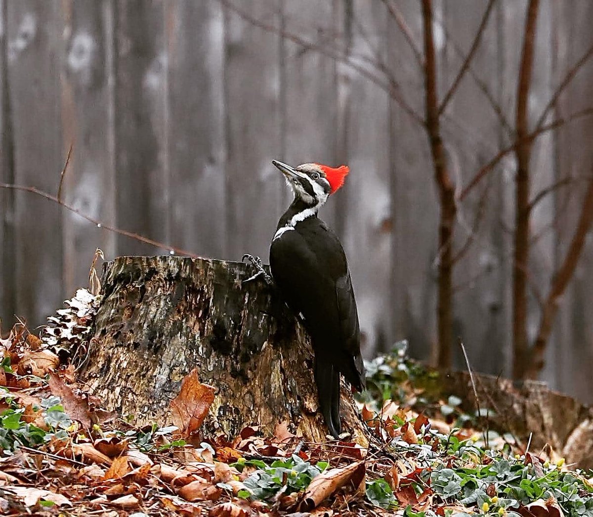
[[[517,174],[515,175],[515,239],[513,260],[513,377],[521,379],[527,366],[527,267],[529,259],[529,184],[530,158],[532,139],[528,135],[528,98],[531,88],[535,28],[539,0],[530,0],[525,17],[525,32],[521,64],[519,65],[519,81],[517,84]]]

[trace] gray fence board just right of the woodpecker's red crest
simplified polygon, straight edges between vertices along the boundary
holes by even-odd
[[[382,4],[355,1],[346,11],[345,33],[350,52],[385,59],[387,23]],[[389,279],[391,231],[389,196],[388,94],[358,72],[343,71],[349,82],[346,142],[350,174],[342,196],[347,219],[343,245],[356,289],[366,355],[391,342]]]

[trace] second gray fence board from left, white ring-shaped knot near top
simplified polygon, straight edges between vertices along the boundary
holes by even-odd
[[[103,224],[115,220],[113,154],[113,11],[109,0],[62,2],[67,34],[62,79],[63,151],[72,144],[62,196]],[[115,235],[63,213],[66,295],[88,282],[95,248],[115,254]]]

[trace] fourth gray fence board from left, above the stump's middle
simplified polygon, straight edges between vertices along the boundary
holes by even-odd
[[[172,241],[225,257],[224,19],[217,1],[167,2]]]

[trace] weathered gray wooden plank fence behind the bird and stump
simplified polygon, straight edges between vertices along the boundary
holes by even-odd
[[[536,373],[592,403],[591,20],[589,0],[0,0],[3,331],[88,285],[96,247],[267,261],[291,201],[271,161],[315,161],[350,167],[320,216],[349,257],[365,355],[407,339],[435,362],[445,303],[473,368],[510,376],[522,149],[524,333],[533,346],[557,307]]]

